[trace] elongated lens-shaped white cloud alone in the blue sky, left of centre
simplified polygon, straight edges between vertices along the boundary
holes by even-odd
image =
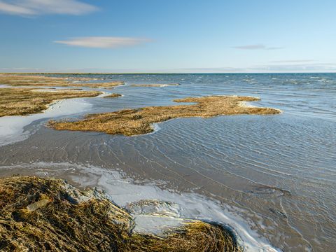
[[[121,48],[139,45],[150,42],[148,38],[126,38],[126,37],[80,37],[70,38],[65,41],[54,41],[64,45],[80,46],[85,48]]]

